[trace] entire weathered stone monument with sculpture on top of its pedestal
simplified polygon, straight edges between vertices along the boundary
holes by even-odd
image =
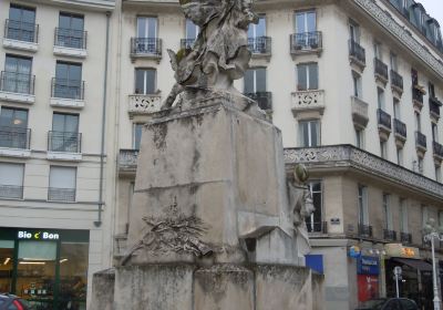
[[[286,176],[280,131],[233,86],[251,1],[179,4],[200,33],[168,50],[176,84],[143,131],[128,251],[94,276],[91,309],[321,309],[306,169]]]

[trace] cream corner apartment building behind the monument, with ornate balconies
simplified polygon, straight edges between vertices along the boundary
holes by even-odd
[[[403,268],[401,294],[429,309],[422,226],[443,224],[439,23],[412,0],[255,6],[250,70],[236,86],[282,131],[288,172],[297,163],[311,172],[307,260],[324,273],[328,309],[393,296],[394,266]],[[117,7],[115,259],[125,251],[141,130],[174,82],[165,51],[190,46],[198,33],[178,1]]]

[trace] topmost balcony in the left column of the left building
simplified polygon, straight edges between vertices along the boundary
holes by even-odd
[[[39,25],[34,23],[6,20],[3,48],[37,52]]]

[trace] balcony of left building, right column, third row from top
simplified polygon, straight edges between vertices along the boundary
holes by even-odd
[[[48,133],[48,159],[73,161],[82,159],[82,134],[75,132]]]

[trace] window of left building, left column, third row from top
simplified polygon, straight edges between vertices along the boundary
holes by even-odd
[[[0,147],[29,148],[28,110],[1,107]]]

